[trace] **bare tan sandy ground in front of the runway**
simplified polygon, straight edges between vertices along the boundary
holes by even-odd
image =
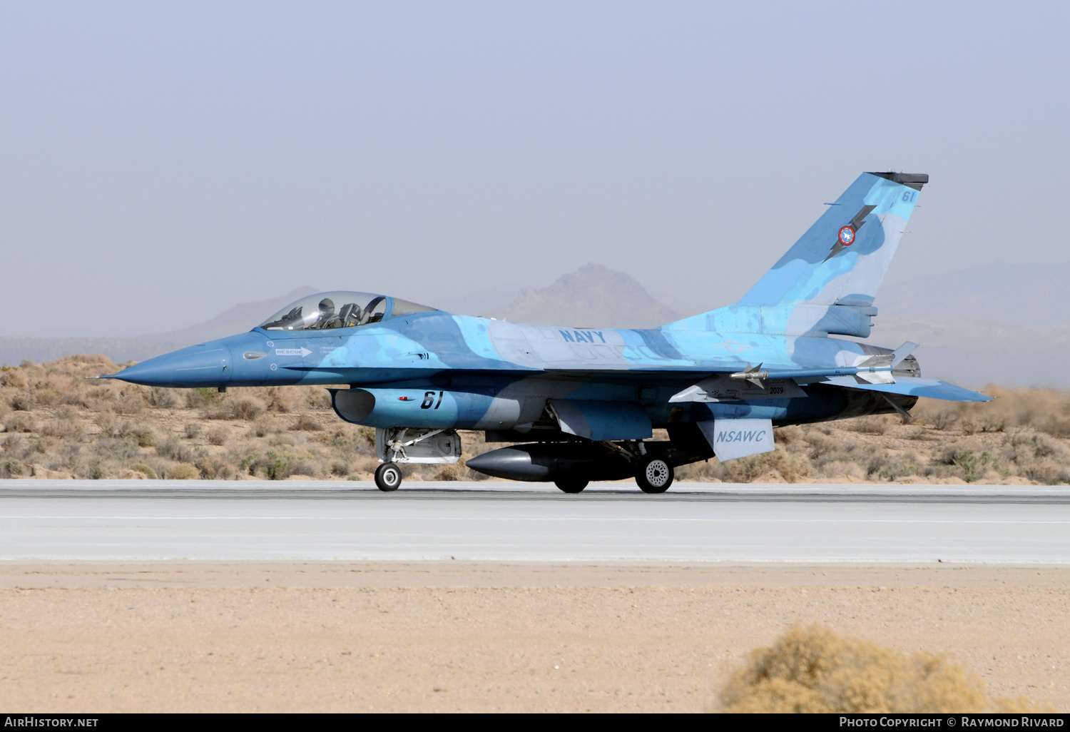
[[[1070,568],[0,564],[0,708],[679,711],[795,622],[1070,710]]]

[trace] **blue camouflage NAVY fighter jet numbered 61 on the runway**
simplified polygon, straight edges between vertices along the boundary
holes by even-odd
[[[775,426],[900,413],[918,397],[987,401],[922,379],[916,344],[868,337],[873,299],[926,174],[867,172],[734,305],[652,330],[544,327],[452,315],[386,295],[323,292],[248,333],[104,377],[173,387],[349,384],[346,422],[376,428],[376,484],[398,463],[454,463],[457,429],[514,443],[468,467],[577,493],[677,466],[774,449]],[[664,428],[668,440],[652,440]]]

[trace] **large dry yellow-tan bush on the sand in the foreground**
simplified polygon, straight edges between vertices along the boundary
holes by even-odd
[[[930,653],[906,655],[796,626],[750,654],[720,695],[725,712],[838,714],[995,712],[1026,700],[990,699],[972,670]]]

